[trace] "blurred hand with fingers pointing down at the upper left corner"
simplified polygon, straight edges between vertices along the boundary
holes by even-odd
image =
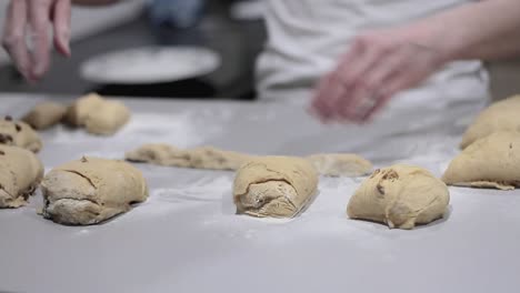
[[[50,37],[54,47],[69,57],[70,0],[11,0],[2,44],[20,73],[30,81],[39,80],[49,69]],[[27,46],[31,38],[32,50]]]

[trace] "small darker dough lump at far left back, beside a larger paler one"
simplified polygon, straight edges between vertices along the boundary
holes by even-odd
[[[67,113],[67,107],[54,102],[37,104],[21,120],[33,129],[43,130],[58,124]]]

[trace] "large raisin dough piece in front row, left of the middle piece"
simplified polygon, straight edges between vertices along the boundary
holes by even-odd
[[[83,158],[54,168],[41,183],[43,216],[68,225],[106,221],[148,198],[141,172],[123,161]]]

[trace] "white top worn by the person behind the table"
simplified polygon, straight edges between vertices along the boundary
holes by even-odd
[[[333,70],[364,30],[408,23],[471,0],[267,0],[268,42],[257,62],[262,101],[308,103],[317,81]],[[449,32],[447,32],[449,33]],[[440,42],[442,40],[439,40]],[[489,79],[480,61],[447,64],[421,85],[399,93],[390,109],[480,102]]]

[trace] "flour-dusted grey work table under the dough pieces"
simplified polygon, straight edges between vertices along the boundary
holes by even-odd
[[[0,95],[20,115],[37,95]],[[60,99],[60,98],[54,98]],[[66,98],[63,98],[66,99]],[[71,99],[71,98],[69,98]],[[122,158],[147,142],[211,144],[258,154],[357,152],[377,166],[413,163],[440,175],[478,108],[416,109],[373,124],[320,125],[301,107],[126,100],[116,137],[57,127],[46,169],[83,154]],[[0,210],[0,291],[9,292],[518,292],[520,192],[450,188],[447,219],[413,231],[349,220],[362,179],[320,179],[299,218],[234,214],[232,172],[138,164],[150,198],[101,225],[63,226],[28,206]]]

